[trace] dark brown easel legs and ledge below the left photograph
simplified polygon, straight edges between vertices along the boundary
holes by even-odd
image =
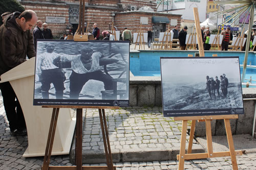
[[[108,107],[108,106],[42,106],[43,108],[53,108],[52,119],[47,139],[46,152],[44,157],[44,164],[42,165],[42,170],[51,169],[106,169],[114,170],[116,167],[113,166],[113,160],[111,155],[109,132],[106,124],[105,110],[104,109],[118,109],[119,107]],[[50,158],[52,154],[53,140],[57,125],[57,119],[59,114],[59,108],[76,108],[76,166],[49,166]],[[100,117],[101,132],[103,137],[106,164],[107,166],[82,166],[82,109],[98,109]],[[73,135],[73,134],[71,134]]]

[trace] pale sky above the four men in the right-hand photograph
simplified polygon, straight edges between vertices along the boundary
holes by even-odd
[[[205,82],[206,76],[225,74],[227,78],[240,81],[238,58],[162,58],[161,76],[163,83]]]

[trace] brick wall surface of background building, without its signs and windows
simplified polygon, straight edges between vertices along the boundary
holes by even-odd
[[[78,0],[22,0],[20,2],[25,9],[34,10],[38,15],[38,20],[46,22],[46,16],[66,17],[65,23],[48,23],[48,28],[52,30],[53,36],[61,36],[67,32],[69,21],[69,7],[79,5]],[[152,28],[152,16],[167,16],[169,19],[178,19],[180,26],[181,15],[172,15],[166,13],[153,12],[131,12],[131,6],[140,7],[148,6],[156,10],[156,1],[149,0],[86,0],[85,22],[88,23],[88,31],[93,31],[93,24],[97,23],[100,32],[110,30],[114,19],[118,31],[123,31],[125,27],[132,32],[137,32],[140,27],[140,17],[148,17],[148,25],[142,25],[142,31],[146,32],[148,27]],[[115,13],[113,17],[112,14]],[[167,25],[167,24],[166,24]],[[167,28],[166,28],[167,29]]]

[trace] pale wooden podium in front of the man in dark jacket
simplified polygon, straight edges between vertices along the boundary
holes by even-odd
[[[44,156],[52,117],[52,108],[33,106],[35,57],[1,75],[1,82],[9,81],[22,107],[27,131],[28,148],[23,157]],[[52,155],[69,154],[76,119],[69,109],[60,109]]]

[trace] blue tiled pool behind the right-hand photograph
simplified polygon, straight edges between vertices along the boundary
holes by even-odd
[[[195,56],[198,51],[137,51],[130,53],[130,70],[134,76],[161,76],[160,57],[186,57],[188,54]],[[239,56],[240,64],[244,62],[244,52],[223,52],[223,51],[205,51],[205,57],[211,57],[217,54],[219,57]],[[247,64],[256,65],[256,53],[249,52]],[[240,68],[241,74],[243,68]],[[245,79],[256,80],[256,69],[247,68]]]

